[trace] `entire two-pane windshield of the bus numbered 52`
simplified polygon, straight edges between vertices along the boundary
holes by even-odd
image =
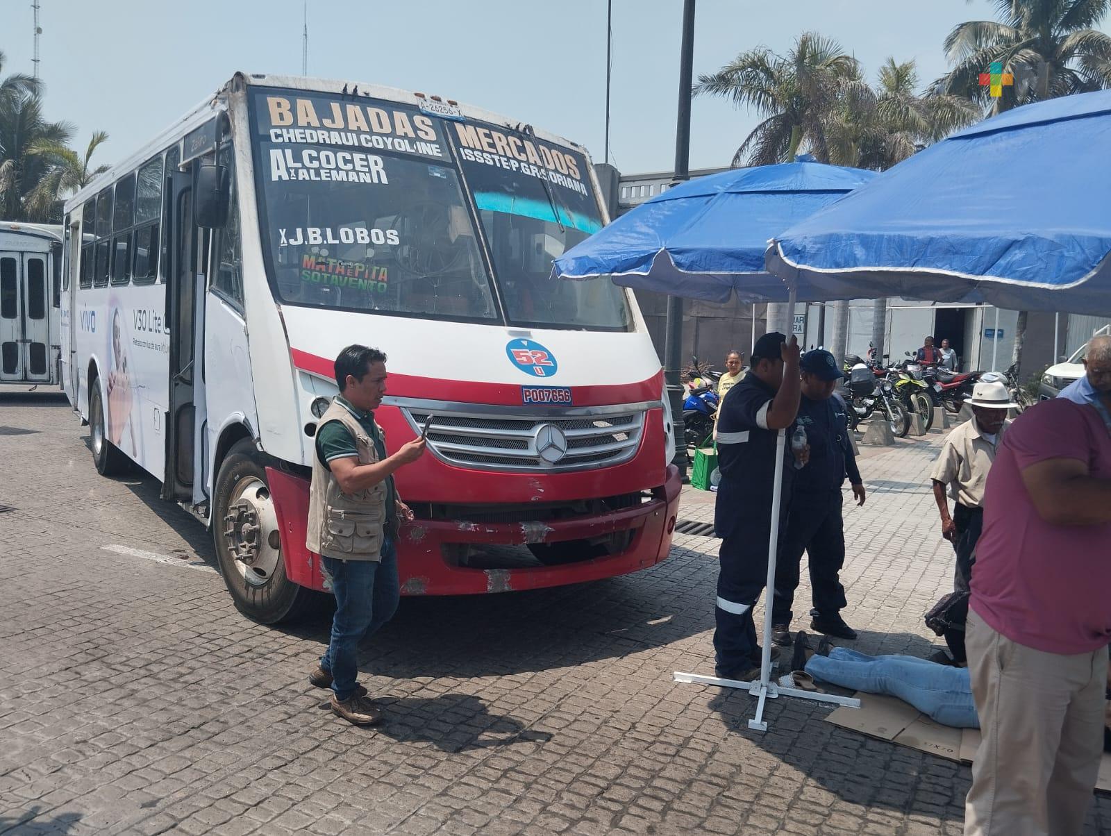
[[[632,329],[624,291],[609,278],[551,278],[552,259],[602,226],[582,153],[531,130],[300,90],[256,88],[251,120],[263,252],[281,301]]]

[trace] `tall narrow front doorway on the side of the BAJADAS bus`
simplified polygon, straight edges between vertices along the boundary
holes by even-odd
[[[201,486],[194,479],[200,456],[198,437],[203,422],[201,365],[207,236],[193,222],[193,166],[186,171],[167,163],[169,176],[170,269],[167,271],[166,310],[170,327],[170,408],[167,421],[166,478],[162,497],[196,504]],[[200,402],[199,402],[200,401]]]

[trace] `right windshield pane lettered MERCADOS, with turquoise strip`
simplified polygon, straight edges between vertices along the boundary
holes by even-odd
[[[587,159],[578,151],[481,122],[449,132],[490,247],[512,325],[628,330],[624,291],[609,277],[552,279],[552,259],[602,227]]]

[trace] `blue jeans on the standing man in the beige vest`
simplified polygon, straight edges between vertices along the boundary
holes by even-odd
[[[398,553],[389,536],[382,544],[382,559],[337,560],[322,557],[336,595],[332,638],[320,657],[320,667],[331,673],[332,690],[339,700],[349,699],[358,685],[359,641],[389,621],[398,610]]]

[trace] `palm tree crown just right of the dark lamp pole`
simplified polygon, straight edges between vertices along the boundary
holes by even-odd
[[[742,52],[710,76],[699,76],[694,94],[721,96],[753,108],[764,119],[737,149],[732,165],[791,162],[808,148],[829,162],[827,125],[845,102],[872,99],[857,59],[841,44],[805,32],[785,54],[767,47]]]

